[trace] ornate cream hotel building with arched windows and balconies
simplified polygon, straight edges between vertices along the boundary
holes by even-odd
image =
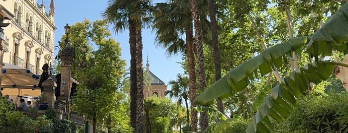
[[[2,10],[13,15],[10,25],[3,28],[3,63],[29,69],[37,75],[42,73],[41,67],[45,63],[53,61],[54,32],[57,29],[54,25],[54,1],[50,1],[47,9],[44,0],[40,2],[0,0]]]

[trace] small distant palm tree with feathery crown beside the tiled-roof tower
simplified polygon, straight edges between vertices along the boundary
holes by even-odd
[[[170,80],[169,84],[172,85],[171,90],[165,92],[165,95],[169,94],[170,98],[178,98],[178,105],[182,104],[182,99],[185,101],[186,105],[186,114],[187,114],[187,123],[190,123],[190,111],[187,99],[189,98],[189,84],[190,80],[187,76],[182,76],[180,73],[177,75],[176,80]]]

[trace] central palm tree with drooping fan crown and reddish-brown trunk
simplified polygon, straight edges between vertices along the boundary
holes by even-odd
[[[190,102],[192,131],[197,132],[197,111],[194,99],[196,98],[196,71],[193,44],[192,13],[189,0],[173,0],[171,3],[157,3],[153,28],[156,31],[156,41],[167,49],[167,54],[176,54],[179,51],[187,54],[190,78]],[[179,38],[186,35],[186,42]],[[185,47],[186,46],[186,47]]]

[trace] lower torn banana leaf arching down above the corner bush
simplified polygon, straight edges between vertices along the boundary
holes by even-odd
[[[322,71],[332,72],[335,68],[335,63],[319,62],[312,67],[321,69]],[[274,88],[272,88],[271,94],[264,98],[264,103],[258,108],[257,112],[262,117],[260,118],[259,116],[255,116],[256,119],[254,119],[255,121],[249,125],[247,133],[270,133],[264,132],[266,130],[263,127],[259,127],[259,125],[265,123],[260,119],[268,119],[268,117],[271,117],[274,120],[281,122],[284,119],[288,118],[293,111],[293,108],[290,104],[292,104],[293,106],[297,105],[294,96],[300,97],[301,95],[303,95],[304,91],[307,91],[308,89],[309,83],[305,78],[308,72],[309,71],[306,71],[304,69],[293,71],[289,76],[283,78],[284,83],[279,83]],[[269,128],[272,129],[273,127]]]

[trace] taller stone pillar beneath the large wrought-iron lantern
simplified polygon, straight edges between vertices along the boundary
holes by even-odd
[[[70,47],[67,47],[60,51],[60,59],[62,61],[61,63],[61,82],[63,80],[65,81],[66,85],[65,88],[62,88],[60,90],[60,96],[59,99],[66,101],[67,107],[69,105],[69,94],[70,94],[70,79],[71,79],[71,62],[73,60],[73,51]],[[63,87],[63,86],[61,86]],[[62,93],[64,92],[65,96],[62,96]]]

